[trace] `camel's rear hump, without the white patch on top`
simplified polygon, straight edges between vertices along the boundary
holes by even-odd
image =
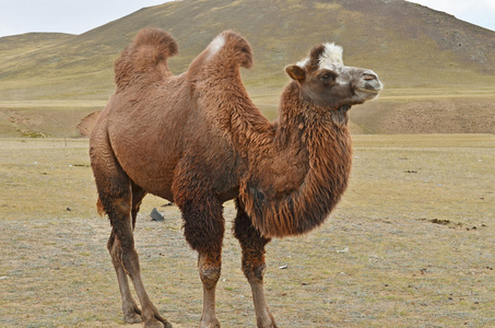
[[[126,89],[131,82],[150,83],[172,75],[167,59],[177,52],[178,45],[167,32],[154,27],[141,30],[115,62],[117,89]]]

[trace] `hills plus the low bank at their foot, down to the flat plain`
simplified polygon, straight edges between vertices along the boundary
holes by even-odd
[[[82,35],[0,38],[0,136],[36,129],[60,134],[50,119],[31,119],[40,108],[51,118],[61,110],[75,115],[60,122],[72,129],[62,134],[72,133],[113,93],[113,62],[144,26],[176,37],[180,55],[170,60],[176,73],[221,31],[243,34],[255,52],[255,67],[244,79],[269,117],[287,81],[283,68],[315,44],[332,40],[344,47],[346,65],[375,70],[386,85],[380,99],[353,110],[354,131],[495,133],[495,122],[476,119],[494,117],[495,32],[403,0],[182,0]],[[482,113],[470,115],[473,110]]]

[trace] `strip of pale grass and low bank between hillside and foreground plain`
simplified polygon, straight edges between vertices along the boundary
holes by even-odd
[[[278,116],[282,89],[248,86],[271,120]],[[0,101],[0,138],[78,138],[78,125],[106,102]],[[378,99],[354,106],[350,125],[354,133],[495,133],[494,108],[495,90],[386,89]]]

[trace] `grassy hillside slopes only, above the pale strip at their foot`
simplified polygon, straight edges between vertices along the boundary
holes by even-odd
[[[495,93],[495,32],[419,4],[182,0],[142,9],[82,35],[47,34],[45,42],[40,35],[0,38],[0,107],[26,99],[105,101],[114,90],[114,60],[144,26],[162,27],[177,38],[180,55],[169,61],[176,73],[223,30],[239,32],[255,52],[255,67],[243,72],[245,82],[255,96],[269,95],[271,110],[274,94],[287,81],[283,68],[329,40],[344,47],[347,65],[378,72],[386,85],[382,101],[404,93]]]

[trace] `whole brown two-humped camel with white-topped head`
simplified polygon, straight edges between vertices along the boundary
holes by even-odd
[[[241,246],[257,326],[276,327],[263,292],[264,247],[274,237],[307,233],[328,218],[351,173],[347,112],[376,97],[382,84],[372,70],[344,66],[340,46],[315,46],[305,60],[285,68],[291,81],[279,119],[271,122],[241,82],[240,67],[251,67],[252,52],[240,35],[221,33],[186,72],[174,75],[167,59],[177,52],[168,33],[142,30],[115,63],[116,92],[91,134],[97,208],[111,224],[107,248],[123,319],[172,327],[146,294],[134,249],[135,216],[143,197],[152,194],[177,204],[185,238],[198,251],[199,327],[220,327],[215,286],[223,203],[233,199],[233,233]]]

